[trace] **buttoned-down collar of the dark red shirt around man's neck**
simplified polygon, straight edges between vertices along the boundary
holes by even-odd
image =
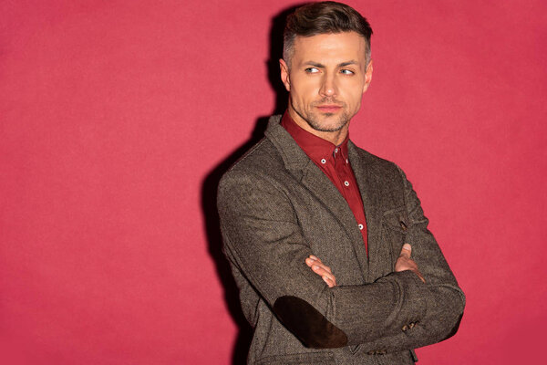
[[[296,124],[288,111],[284,112],[281,125],[289,132],[305,154],[307,154],[315,163],[319,163],[323,159],[327,161],[334,159],[335,151],[341,152],[344,160],[347,160],[347,141],[349,141],[349,133],[347,133],[346,139],[340,143],[339,146],[336,146],[335,144],[304,130]]]

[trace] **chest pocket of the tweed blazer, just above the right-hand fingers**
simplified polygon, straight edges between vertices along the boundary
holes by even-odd
[[[382,217],[382,225],[384,229],[384,239],[391,247],[392,263],[395,265],[398,255],[401,252],[403,244],[407,239],[408,228],[410,222],[408,222],[408,213],[406,207],[400,207],[396,209],[390,209],[384,212]],[[412,244],[409,242],[409,244]]]

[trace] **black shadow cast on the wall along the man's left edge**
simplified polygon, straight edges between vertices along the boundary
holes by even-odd
[[[302,4],[300,4],[302,5]],[[268,78],[275,93],[275,107],[273,114],[283,114],[286,109],[287,93],[281,82],[279,75],[279,58],[283,56],[283,31],[285,18],[294,12],[294,9],[300,5],[294,5],[284,9],[272,19],[270,29],[270,57],[266,62],[268,69]],[[204,215],[205,230],[207,240],[209,241],[209,253],[212,255],[217,268],[217,275],[224,287],[224,300],[226,307],[232,315],[232,319],[239,328],[237,339],[232,350],[232,364],[244,364],[247,360],[247,352],[251,339],[253,338],[253,328],[243,317],[240,307],[238,288],[232,277],[232,271],[226,257],[222,253],[222,235],[219,226],[219,215],[216,208],[216,192],[218,184],[224,172],[227,172],[230,166],[239,160],[243,154],[254,144],[263,138],[267,122],[270,116],[259,117],[254,126],[254,130],[249,138],[232,151],[221,163],[215,166],[207,174],[201,185],[201,208]]]

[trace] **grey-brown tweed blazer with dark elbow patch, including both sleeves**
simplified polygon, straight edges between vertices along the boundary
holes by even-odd
[[[224,174],[224,253],[254,328],[250,364],[412,364],[413,349],[452,336],[465,297],[428,231],[405,174],[348,143],[369,255],[344,197],[272,117]],[[394,272],[404,243],[424,276]],[[332,268],[329,288],[305,265]]]

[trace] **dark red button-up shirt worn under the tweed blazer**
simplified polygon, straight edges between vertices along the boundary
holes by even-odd
[[[284,113],[281,125],[289,132],[305,154],[315,162],[317,167],[325,172],[325,175],[335,184],[338,192],[344,196],[349,208],[356,217],[356,224],[363,236],[366,255],[368,255],[365,209],[363,207],[361,193],[359,193],[356,176],[351,168],[349,158],[347,157],[347,141],[349,141],[349,134],[346,137],[346,140],[339,146],[335,146],[333,143],[325,141],[309,131],[304,130],[294,122],[288,112]]]

